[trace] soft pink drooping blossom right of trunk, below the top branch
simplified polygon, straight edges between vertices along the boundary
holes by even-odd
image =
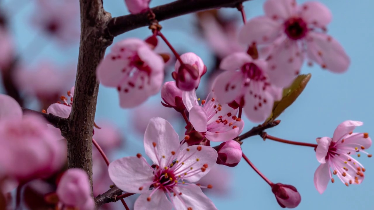
[[[164,62],[138,38],[122,40],[111,48],[97,68],[101,84],[118,90],[120,106],[132,108],[159,92]]]

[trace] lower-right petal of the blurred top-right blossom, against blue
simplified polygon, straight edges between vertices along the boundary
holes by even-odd
[[[340,43],[331,36],[309,32],[306,43],[309,59],[321,65],[322,68],[334,73],[344,73],[348,70],[350,58]]]

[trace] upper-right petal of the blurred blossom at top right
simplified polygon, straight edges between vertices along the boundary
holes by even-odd
[[[308,24],[326,27],[331,22],[332,14],[327,6],[318,1],[307,1],[300,5],[301,18]]]

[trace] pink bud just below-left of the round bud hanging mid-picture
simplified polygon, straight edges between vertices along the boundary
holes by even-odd
[[[184,111],[186,107],[182,101],[182,90],[177,87],[175,81],[169,81],[163,84],[161,89],[161,98],[166,107],[172,107],[177,111]]]

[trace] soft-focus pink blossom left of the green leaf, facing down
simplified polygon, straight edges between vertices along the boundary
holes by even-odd
[[[213,90],[217,99],[229,103],[237,98],[244,102],[244,112],[249,120],[261,123],[272,112],[274,101],[282,98],[282,88],[269,79],[267,62],[253,60],[246,53],[233,53],[223,59]]]

